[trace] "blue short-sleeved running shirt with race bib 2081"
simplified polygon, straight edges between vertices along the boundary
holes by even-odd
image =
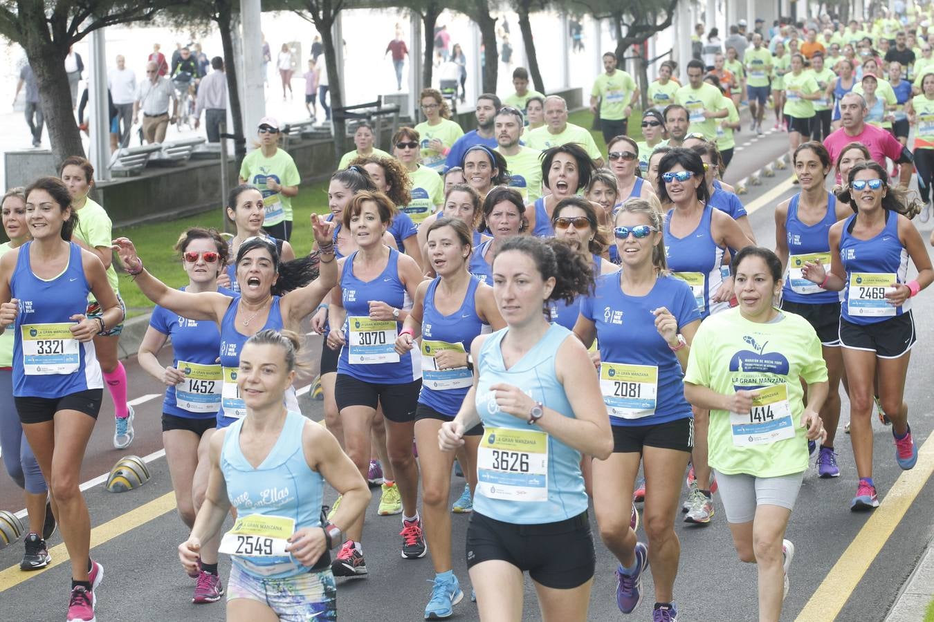
[[[593,296],[582,297],[580,313],[594,323],[600,346],[600,385],[613,425],[654,425],[692,417],[685,399],[684,371],[655,327],[652,311],[672,311],[678,332],[701,319],[687,284],[659,276],[645,296],[624,294],[619,272],[597,279]]]

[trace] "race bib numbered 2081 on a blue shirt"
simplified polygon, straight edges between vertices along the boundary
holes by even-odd
[[[600,364],[603,403],[614,417],[642,419],[655,414],[658,366]]]

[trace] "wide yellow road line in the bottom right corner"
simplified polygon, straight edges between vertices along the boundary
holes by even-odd
[[[875,560],[924,487],[927,478],[934,472],[934,443],[931,438],[934,435],[927,437],[925,444],[918,450],[918,462],[914,468],[902,472],[882,504],[872,512],[853,542],[846,547],[817,587],[811,600],[804,605],[795,622],[830,622],[840,614],[850,594],[869,570],[872,560]]]

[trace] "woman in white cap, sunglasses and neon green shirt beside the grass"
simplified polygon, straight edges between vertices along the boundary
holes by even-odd
[[[323,104],[323,100],[322,100]],[[257,131],[260,147],[243,159],[240,166],[240,184],[252,184],[262,192],[262,206],[266,217],[262,228],[266,233],[289,242],[292,228],[291,200],[298,196],[302,177],[295,160],[278,146],[279,122],[273,117],[262,117]]]

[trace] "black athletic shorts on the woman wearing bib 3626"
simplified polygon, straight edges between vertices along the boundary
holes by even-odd
[[[541,525],[514,525],[474,513],[467,527],[467,568],[502,560],[545,587],[571,589],[589,581],[597,565],[587,512]]]

